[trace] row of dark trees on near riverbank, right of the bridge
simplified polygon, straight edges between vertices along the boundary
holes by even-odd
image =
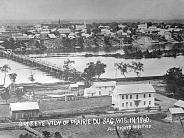
[[[72,64],[75,62],[72,60],[67,59],[64,61],[63,65],[63,72],[65,80],[69,80],[69,77],[72,77],[73,81],[77,81],[83,79],[86,81],[88,86],[91,85],[91,81],[93,78],[99,79],[100,76],[105,73],[105,68],[107,67],[106,64],[102,63],[101,61],[96,62],[89,62],[87,63],[87,67],[84,69],[82,73],[78,72]],[[116,70],[120,70],[121,74],[126,78],[126,73],[134,71],[137,77],[140,77],[141,72],[144,71],[143,64],[141,62],[132,63],[115,63],[114,64]]]

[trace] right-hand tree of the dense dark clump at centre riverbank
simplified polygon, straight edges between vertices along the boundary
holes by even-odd
[[[95,64],[95,74],[98,76],[98,79],[100,78],[100,75],[105,73],[106,64],[101,63],[101,61],[97,61]]]

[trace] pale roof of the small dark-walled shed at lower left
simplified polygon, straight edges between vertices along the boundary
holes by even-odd
[[[39,110],[39,105],[37,102],[10,103],[9,107],[11,111]]]

